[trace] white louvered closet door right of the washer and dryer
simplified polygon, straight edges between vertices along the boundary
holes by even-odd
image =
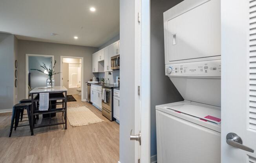
[[[221,163],[256,163],[255,16],[254,0],[221,0]]]

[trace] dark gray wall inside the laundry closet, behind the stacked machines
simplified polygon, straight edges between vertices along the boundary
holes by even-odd
[[[157,154],[155,105],[182,101],[183,98],[165,76],[163,13],[183,0],[150,1],[150,132],[151,156]],[[153,93],[154,92],[154,93]]]

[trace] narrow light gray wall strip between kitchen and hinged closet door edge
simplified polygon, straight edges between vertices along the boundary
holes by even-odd
[[[120,1],[120,131],[119,160],[132,163],[135,160],[135,141],[130,141],[130,130],[134,133],[135,106],[135,0]]]

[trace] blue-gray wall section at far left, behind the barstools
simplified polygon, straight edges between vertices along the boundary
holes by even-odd
[[[11,109],[14,103],[14,38],[0,33],[0,109]]]

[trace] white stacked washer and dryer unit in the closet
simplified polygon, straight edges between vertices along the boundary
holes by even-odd
[[[220,0],[164,13],[165,70],[184,101],[156,106],[158,163],[221,161]]]

